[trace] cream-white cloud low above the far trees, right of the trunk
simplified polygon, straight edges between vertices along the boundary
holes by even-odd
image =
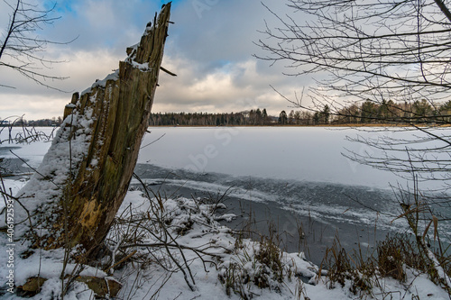
[[[166,56],[163,65],[178,77],[161,73],[153,112],[220,113],[260,107],[279,114],[288,104],[270,84],[290,94],[296,88],[286,78],[259,73],[258,62],[252,58],[207,73],[199,72],[199,66],[186,58]]]

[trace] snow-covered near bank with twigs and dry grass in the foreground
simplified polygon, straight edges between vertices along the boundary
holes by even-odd
[[[10,181],[7,181],[10,183]],[[152,195],[152,193],[151,193]],[[133,262],[113,268],[113,277],[119,279],[123,288],[118,298],[143,299],[240,299],[242,295],[254,299],[355,299],[350,291],[352,286],[348,280],[345,286],[335,285],[331,288],[330,280],[324,270],[305,260],[303,253],[286,253],[280,250],[281,277],[275,276],[275,271],[261,259],[261,250],[269,247],[260,242],[237,239],[232,231],[215,221],[214,208],[220,208],[220,214],[226,212],[226,205],[207,202],[201,198],[147,198],[142,189],[133,186],[120,207],[115,227],[107,237],[106,245],[110,250],[135,250]],[[174,238],[168,238],[161,231],[160,223],[149,221],[158,216],[161,223]],[[136,231],[133,226],[136,226]],[[149,232],[148,232],[149,230]],[[128,232],[128,233],[127,233]],[[152,232],[152,234],[150,234]],[[128,235],[127,235],[128,234]],[[133,239],[125,239],[124,237]],[[185,273],[169,258],[168,250],[161,246],[161,239],[167,239],[171,256],[182,266]],[[118,243],[121,243],[118,247]],[[5,262],[7,252],[5,234],[0,234],[0,261]],[[160,244],[160,245],[159,245]],[[153,246],[152,246],[153,245]],[[16,244],[16,253],[30,250],[28,243]],[[73,250],[74,253],[77,251]],[[121,252],[122,253],[122,252]],[[119,252],[117,252],[119,254]],[[122,254],[124,256],[124,254]],[[27,259],[15,257],[15,283],[22,285],[32,275],[40,273],[48,280],[42,286],[41,294],[31,299],[50,300],[60,295],[63,250],[32,251]],[[263,257],[264,258],[264,257]],[[104,259],[107,261],[108,259]],[[186,261],[187,265],[184,264]],[[114,265],[113,262],[110,265]],[[69,263],[66,274],[77,268]],[[81,268],[79,275],[107,277],[104,267]],[[0,277],[5,278],[7,268],[0,268]],[[400,283],[392,278],[374,278],[378,286],[371,291],[374,299],[385,299],[391,296],[401,298],[448,299],[446,291],[434,285],[424,274],[408,269],[406,283]],[[189,275],[190,274],[190,275]],[[321,276],[319,276],[321,274]],[[192,280],[190,279],[192,276]],[[186,278],[192,281],[193,290],[186,283]],[[235,278],[235,283],[227,281]],[[266,280],[267,286],[257,287],[255,278]],[[195,284],[194,284],[195,283]],[[232,285],[232,288],[230,288]],[[229,286],[229,288],[227,288]],[[333,285],[334,286],[334,285]],[[17,295],[7,293],[2,298],[17,299]],[[65,299],[92,299],[93,293],[84,283],[75,282],[69,289]]]

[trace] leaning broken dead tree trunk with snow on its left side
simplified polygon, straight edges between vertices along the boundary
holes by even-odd
[[[95,255],[133,176],[169,23],[170,4],[115,73],[72,96],[51,149],[18,195],[16,236],[46,249],[80,244]]]

